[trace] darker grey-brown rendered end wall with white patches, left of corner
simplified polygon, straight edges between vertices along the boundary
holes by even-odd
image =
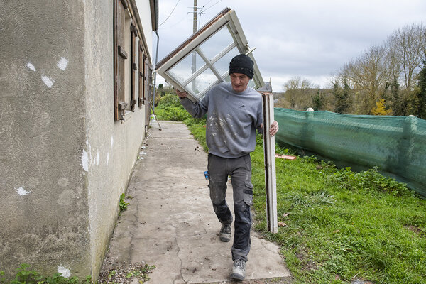
[[[88,275],[83,1],[0,13],[0,270]]]

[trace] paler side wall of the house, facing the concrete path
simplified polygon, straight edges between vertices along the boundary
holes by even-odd
[[[102,266],[114,229],[119,211],[119,196],[126,190],[145,135],[144,107],[140,109],[136,106],[134,112],[129,111],[124,122],[114,121],[112,7],[112,0],[108,4],[104,1],[86,1],[84,9],[87,118],[85,151],[88,158],[92,271],[96,273]],[[146,36],[151,37],[151,33]],[[128,79],[130,80],[130,76]],[[137,91],[136,84],[136,94]]]

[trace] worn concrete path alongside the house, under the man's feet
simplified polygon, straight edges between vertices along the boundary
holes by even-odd
[[[220,224],[209,200],[207,153],[185,124],[151,123],[129,183],[129,207],[121,214],[104,269],[114,263],[155,266],[148,283],[228,283],[232,241],[219,240]],[[229,184],[227,202],[232,204]],[[231,208],[232,209],[232,208]],[[234,231],[233,231],[234,234]],[[244,283],[290,283],[278,246],[252,231]],[[250,281],[251,280],[251,281]],[[132,282],[133,283],[133,282]],[[136,282],[137,283],[137,282]]]

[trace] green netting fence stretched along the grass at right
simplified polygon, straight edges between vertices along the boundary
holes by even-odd
[[[405,182],[426,196],[426,120],[275,108],[275,141],[318,155],[339,167],[367,170]]]

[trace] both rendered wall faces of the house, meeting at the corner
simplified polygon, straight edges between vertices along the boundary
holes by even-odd
[[[113,26],[113,0],[0,4],[0,270],[9,275],[30,263],[97,278],[146,122],[137,106],[114,121]]]

